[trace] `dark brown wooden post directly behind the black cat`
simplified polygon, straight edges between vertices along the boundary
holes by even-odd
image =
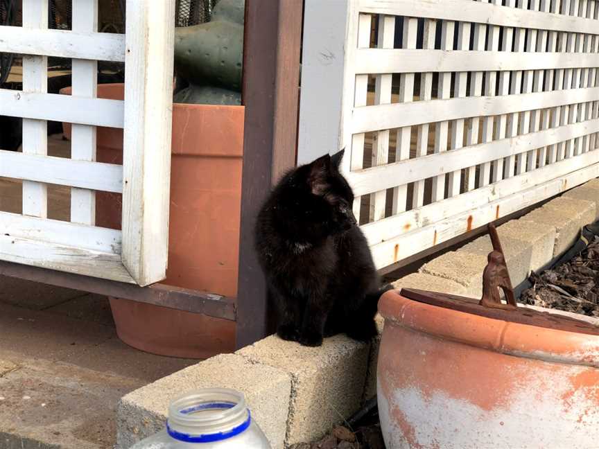
[[[253,230],[270,186],[295,165],[302,12],[300,0],[245,1],[238,348],[268,333],[266,285]]]

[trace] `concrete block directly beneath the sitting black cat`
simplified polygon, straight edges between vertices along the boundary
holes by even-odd
[[[370,344],[336,335],[310,348],[272,335],[237,353],[293,379],[286,445],[322,437],[361,405]]]

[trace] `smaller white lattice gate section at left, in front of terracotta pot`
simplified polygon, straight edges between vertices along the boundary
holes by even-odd
[[[164,279],[171,157],[174,0],[128,0],[125,35],[97,33],[98,0],[73,0],[72,30],[48,29],[48,0],[23,0],[0,26],[21,53],[23,151],[0,150],[0,177],[23,180],[22,214],[0,212],[0,259],[147,285]],[[72,58],[72,96],[47,94],[47,58]],[[125,62],[125,100],[96,98],[97,61]],[[46,121],[73,123],[71,159],[47,156]],[[96,126],[124,129],[123,166],[95,161]],[[71,187],[71,222],[49,220],[46,184]],[[95,191],[123,194],[122,231],[94,226]]]

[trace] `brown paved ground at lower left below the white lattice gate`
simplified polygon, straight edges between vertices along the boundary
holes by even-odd
[[[123,344],[107,299],[0,276],[0,448],[100,449],[119,398],[193,360]]]

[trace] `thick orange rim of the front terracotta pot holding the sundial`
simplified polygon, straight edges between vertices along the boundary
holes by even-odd
[[[512,323],[431,306],[403,297],[394,290],[383,294],[379,312],[385,319],[383,335],[387,326],[403,326],[507,355],[599,367],[599,335]]]

